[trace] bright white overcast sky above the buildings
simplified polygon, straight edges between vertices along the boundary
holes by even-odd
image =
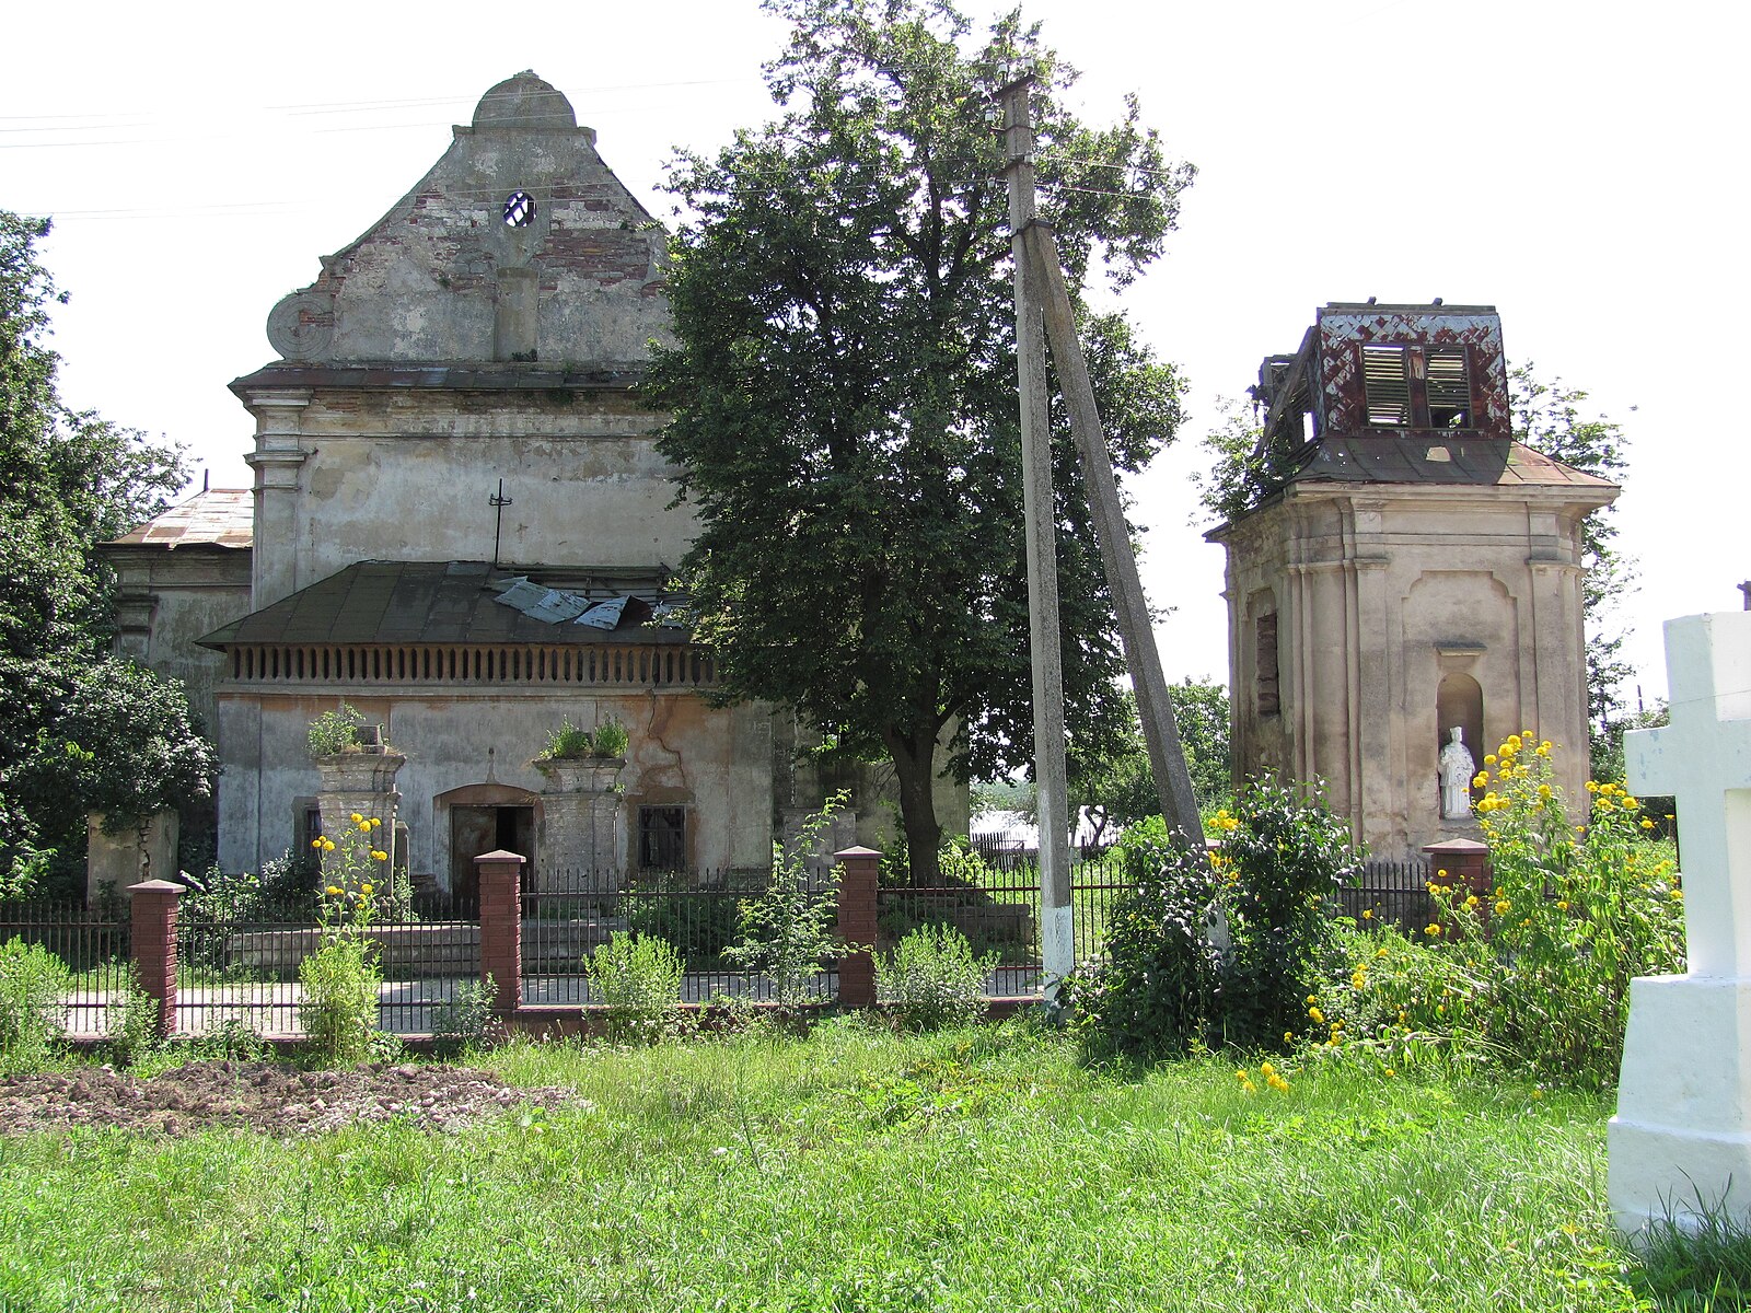
[[[1618,516],[1642,579],[1628,655],[1648,700],[1663,697],[1660,621],[1739,609],[1751,576],[1742,462],[1726,459],[1744,420],[1709,401],[1746,385],[1746,7],[1026,12],[1084,70],[1089,119],[1136,91],[1199,170],[1168,257],[1126,296],[1191,383],[1178,446],[1136,488],[1145,588],[1173,607],[1168,674],[1226,679],[1222,551],[1187,481],[1217,397],[1294,350],[1326,301],[1441,296],[1495,305],[1509,362],[1588,389],[1627,425]],[[187,443],[215,487],[249,485],[252,425],[226,383],[273,359],[268,310],[424,175],[489,86],[520,68],[553,82],[667,217],[672,149],[770,114],[760,63],[781,39],[753,0],[67,0],[19,7],[7,30],[0,207],[54,217],[63,392]]]

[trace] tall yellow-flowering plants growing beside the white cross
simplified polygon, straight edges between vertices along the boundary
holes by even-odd
[[[1630,980],[1684,970],[1683,891],[1642,840],[1655,818],[1621,784],[1588,781],[1588,825],[1569,825],[1555,751],[1527,732],[1485,756],[1494,886],[1431,886],[1439,912],[1415,940],[1348,938],[1348,972],[1297,1029],[1390,1063],[1441,1047],[1548,1082],[1616,1084]]]

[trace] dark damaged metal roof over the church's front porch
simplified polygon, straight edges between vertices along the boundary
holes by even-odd
[[[592,600],[625,599],[613,628],[555,625],[499,606],[499,592],[522,576]],[[665,578],[627,569],[494,569],[483,560],[361,560],[320,583],[254,611],[200,642],[690,642],[672,623],[651,621]]]

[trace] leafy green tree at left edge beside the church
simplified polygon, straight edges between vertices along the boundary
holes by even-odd
[[[84,851],[84,809],[131,821],[210,790],[212,748],[175,686],[105,660],[112,579],[96,544],[168,504],[177,448],[61,403],[46,345],[65,303],[35,243],[46,219],[0,210],[0,875]]]

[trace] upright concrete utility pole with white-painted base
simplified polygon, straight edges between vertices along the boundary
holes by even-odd
[[[1033,781],[1040,819],[1040,961],[1045,998],[1075,966],[1070,912],[1070,786],[1065,772],[1065,674],[1058,623],[1058,543],[1052,525],[1052,427],[1045,403],[1045,331],[1024,233],[1033,222],[1033,77],[996,93],[1003,105],[1009,231],[1016,261],[1016,369],[1021,390],[1021,490],[1028,539],[1028,646],[1033,662]]]

